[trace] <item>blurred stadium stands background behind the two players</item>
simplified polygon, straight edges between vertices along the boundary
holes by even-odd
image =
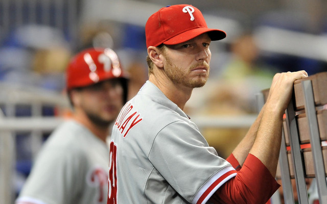
[[[0,0],[1,203],[13,203],[42,142],[69,116],[69,58],[90,46],[113,48],[131,73],[132,97],[147,80],[146,20],[184,3],[227,33],[211,44],[211,76],[185,109],[222,157],[254,120],[255,94],[274,73],[327,70],[323,0]]]

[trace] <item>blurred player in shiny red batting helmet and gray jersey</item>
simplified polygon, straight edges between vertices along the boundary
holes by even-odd
[[[112,49],[88,48],[71,60],[66,79],[73,118],[42,146],[17,204],[107,202],[106,140],[126,103],[126,74]]]

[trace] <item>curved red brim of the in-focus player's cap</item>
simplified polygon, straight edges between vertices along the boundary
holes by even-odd
[[[209,37],[211,40],[221,40],[226,37],[226,33],[221,30],[217,29],[208,29],[208,28],[197,28],[189,31],[185,31],[181,34],[178,34],[171,39],[163,42],[164,44],[167,45],[174,45],[174,44],[179,44],[188,40],[191,40],[192,38],[195,38],[203,33],[208,33]]]

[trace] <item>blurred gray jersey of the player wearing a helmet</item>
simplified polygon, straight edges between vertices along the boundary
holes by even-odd
[[[61,124],[42,146],[18,200],[106,203],[108,145],[75,122]]]

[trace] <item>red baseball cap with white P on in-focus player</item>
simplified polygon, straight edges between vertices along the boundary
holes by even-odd
[[[187,4],[161,8],[149,17],[145,25],[147,47],[178,44],[203,33],[208,33],[211,40],[226,37],[224,31],[209,29],[201,11]]]

